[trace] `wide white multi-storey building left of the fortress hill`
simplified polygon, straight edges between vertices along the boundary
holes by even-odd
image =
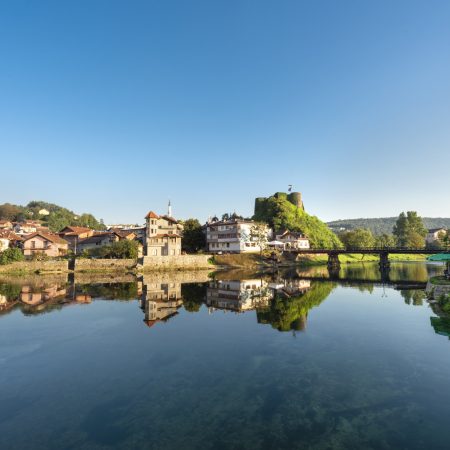
[[[252,237],[253,220],[215,220],[206,224],[206,243],[210,253],[256,253],[262,249]],[[265,226],[267,238],[272,231]]]

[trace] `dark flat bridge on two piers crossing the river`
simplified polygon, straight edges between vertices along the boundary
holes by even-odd
[[[434,255],[436,250],[429,248],[407,248],[407,247],[367,247],[367,248],[347,248],[347,249],[290,249],[287,253],[297,255],[328,255],[328,266],[339,267],[339,255],[378,255],[380,257],[380,269],[388,269],[389,255]]]

